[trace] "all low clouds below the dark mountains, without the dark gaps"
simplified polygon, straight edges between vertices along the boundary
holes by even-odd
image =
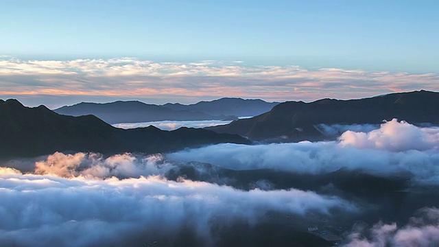
[[[327,127],[327,128],[338,128]],[[419,186],[439,185],[439,128],[393,119],[361,132],[346,130],[337,141],[219,144],[170,154],[63,154],[17,161],[0,168],[0,243],[5,246],[97,246],[154,243],[190,228],[214,245],[215,224],[257,224],[278,212],[331,217],[355,215],[357,202],[340,195],[289,189],[240,190],[228,185],[169,179],[192,165],[200,173],[272,169],[325,174],[338,169],[379,176],[409,176]],[[194,165],[194,164],[209,165]],[[12,161],[3,166],[11,166]],[[24,164],[24,165],[23,165]],[[30,169],[29,167],[32,167]],[[206,167],[210,167],[206,169]],[[31,172],[28,172],[31,171]],[[356,226],[347,246],[434,246],[439,244],[438,209],[420,209],[403,226],[380,222]],[[410,215],[407,215],[410,217]],[[436,236],[436,237],[435,237]],[[172,237],[167,244],[172,242]]]

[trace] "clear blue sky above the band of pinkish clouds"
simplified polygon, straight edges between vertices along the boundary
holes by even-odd
[[[23,61],[240,60],[439,73],[439,1],[3,0],[0,7],[0,54]]]

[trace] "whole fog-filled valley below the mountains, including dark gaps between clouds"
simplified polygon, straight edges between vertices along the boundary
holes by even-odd
[[[5,161],[0,243],[265,246],[319,226],[345,246],[437,245],[439,128],[322,128],[346,131],[315,143]],[[277,245],[331,245],[307,234]]]

